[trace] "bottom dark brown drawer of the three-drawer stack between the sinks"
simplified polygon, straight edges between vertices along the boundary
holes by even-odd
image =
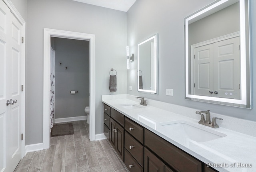
[[[143,172],[143,168],[126,149],[124,149],[124,164],[130,172]]]

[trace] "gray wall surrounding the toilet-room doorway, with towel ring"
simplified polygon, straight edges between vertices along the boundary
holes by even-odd
[[[43,28],[96,35],[96,134],[102,133],[102,95],[127,92],[126,12],[72,0],[28,0],[26,23],[25,144],[43,142]],[[117,71],[114,93],[109,91],[111,68]]]

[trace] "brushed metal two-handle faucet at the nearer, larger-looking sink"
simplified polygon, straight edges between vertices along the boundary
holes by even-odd
[[[212,118],[212,122],[211,122],[210,110],[207,110],[207,111],[196,111],[196,114],[201,115],[201,119],[198,122],[199,124],[203,124],[205,126],[209,126],[209,127],[212,127],[212,128],[219,128],[220,127],[216,123],[216,119],[223,120],[222,118],[214,117],[214,118]],[[206,119],[204,119],[204,115],[203,114],[205,114]]]

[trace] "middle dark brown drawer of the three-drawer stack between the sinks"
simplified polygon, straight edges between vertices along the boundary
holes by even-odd
[[[143,167],[143,155],[144,155],[144,147],[128,132],[125,132],[124,134],[124,147],[130,152],[130,154],[138,161],[138,163]],[[133,146],[133,147],[131,147]]]

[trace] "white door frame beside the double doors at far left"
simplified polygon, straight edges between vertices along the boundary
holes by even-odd
[[[21,140],[21,155],[22,157],[25,156],[25,45],[26,45],[26,41],[25,41],[25,33],[26,33],[26,22],[25,20],[22,18],[22,16],[20,15],[20,13],[18,12],[18,10],[15,8],[15,6],[12,4],[11,0],[3,0],[4,3],[8,6],[8,8],[10,8],[12,14],[17,18],[17,20],[20,22],[20,24],[22,25],[22,32],[20,37],[24,37],[24,41],[22,43],[22,54],[20,54],[21,56],[21,75],[20,75],[20,85],[23,85],[23,91],[21,92],[21,102],[20,102],[20,107],[21,107],[21,114],[20,114],[20,124],[21,126],[21,133],[23,133],[23,140]],[[22,158],[21,157],[21,158]]]

